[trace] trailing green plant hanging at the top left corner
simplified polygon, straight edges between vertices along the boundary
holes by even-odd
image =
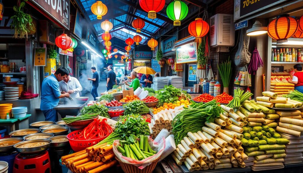
[[[15,29],[14,38],[27,38],[27,34],[34,30],[35,25],[33,24],[33,19],[31,15],[23,12],[23,7],[25,6],[25,2],[28,0],[24,0],[25,2],[17,1],[17,6],[14,6],[13,9],[15,11],[15,15],[12,16],[12,24],[11,28]]]

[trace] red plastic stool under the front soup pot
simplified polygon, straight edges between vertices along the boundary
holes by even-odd
[[[15,158],[13,173],[52,173],[47,151],[38,155],[18,154]]]

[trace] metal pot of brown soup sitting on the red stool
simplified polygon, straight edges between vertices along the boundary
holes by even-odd
[[[14,148],[18,153],[37,154],[47,150],[51,142],[50,139],[34,139],[15,144]]]

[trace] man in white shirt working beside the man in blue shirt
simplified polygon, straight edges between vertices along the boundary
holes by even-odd
[[[68,76],[59,82],[60,91],[62,93],[68,92],[72,98],[80,97],[79,92],[82,91],[82,86],[77,78]]]

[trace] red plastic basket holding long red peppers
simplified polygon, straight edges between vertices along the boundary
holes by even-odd
[[[75,140],[76,135],[78,134],[78,132],[81,132],[81,130],[76,130],[76,131],[72,131],[71,133],[69,133],[67,135],[67,139],[69,141],[69,144],[72,147],[72,150],[74,150],[75,152],[84,150],[85,148],[88,148],[90,146],[96,145],[98,144],[100,141],[102,141],[103,139],[105,139],[106,137],[108,137],[108,135],[102,137],[102,138],[97,138],[97,139],[90,139],[90,140]]]

